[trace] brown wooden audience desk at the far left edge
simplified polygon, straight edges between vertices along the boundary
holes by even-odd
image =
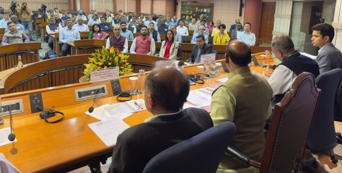
[[[38,50],[42,49],[40,42],[16,43],[0,46],[0,71],[14,68],[21,56],[23,64],[38,62]]]

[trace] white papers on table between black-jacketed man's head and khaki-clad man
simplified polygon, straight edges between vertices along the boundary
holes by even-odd
[[[187,101],[198,107],[209,106],[211,103],[211,94],[201,92],[200,90],[192,90],[187,96]]]

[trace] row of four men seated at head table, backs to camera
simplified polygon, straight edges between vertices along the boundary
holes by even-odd
[[[326,27],[326,25],[319,24],[319,26],[313,27],[313,29],[316,29],[315,31],[321,32],[318,38],[313,39],[313,44],[319,46],[324,52],[328,50],[332,51],[331,41],[334,37],[334,29],[330,25],[328,27],[330,28],[330,34],[326,34],[324,29],[320,29],[321,27]],[[326,37],[326,43],[320,42],[319,39]],[[201,42],[204,42],[204,38],[202,38]],[[327,44],[328,46],[330,45],[329,48],[324,47]],[[322,53],[317,58],[324,58],[326,61],[315,62],[315,60],[301,55],[295,50],[293,41],[289,36],[285,35],[274,38],[272,41],[272,51],[282,63],[276,68],[272,77],[266,81],[263,77],[253,74],[248,67],[248,63],[251,61],[250,46],[240,41],[230,42],[227,46],[225,56],[226,64],[231,71],[228,73],[229,80],[213,92],[211,112],[209,114],[213,125],[226,121],[234,122],[237,131],[233,137],[232,144],[257,161],[260,161],[263,157],[263,149],[265,147],[263,129],[265,120],[272,118],[270,117],[272,114],[272,98],[276,98],[276,103],[278,103],[285,92],[289,90],[295,77],[304,71],[311,72],[317,77],[319,70],[326,72],[333,68],[342,68],[342,55],[340,51],[336,51],[335,49],[335,54],[339,54],[338,58],[336,56],[322,57]],[[330,64],[332,66],[326,68],[327,66],[324,64],[326,64],[328,59],[339,62],[339,66],[335,66],[336,64],[333,63]],[[177,82],[170,81],[170,77]],[[179,85],[174,85],[174,83],[179,83]],[[183,86],[181,83],[186,86]],[[190,120],[191,118],[188,118],[190,120],[188,124],[192,127],[189,130],[198,130],[198,132],[192,131],[192,133],[204,131],[204,125],[210,124],[209,126],[211,126],[210,120],[207,119],[208,114],[205,112],[196,112],[197,110],[195,109],[192,111],[190,109],[181,110],[189,92],[186,90],[189,88],[187,77],[181,75],[181,72],[177,72],[177,70],[173,70],[172,68],[157,68],[150,72],[145,86],[146,106],[148,107],[148,111],[153,113],[154,117],[146,120],[144,124],[127,129],[118,136],[109,172],[142,172],[146,163],[152,157],[173,145],[172,139],[175,139],[174,135],[187,135],[184,133],[183,126],[177,125],[178,122],[185,121],[186,116],[191,117],[192,114],[200,116],[200,118],[196,118],[195,122],[200,121],[197,124],[202,127],[192,127],[192,123],[190,122],[193,121]],[[185,90],[179,92],[179,88]],[[278,88],[281,88],[281,90],[278,90]],[[171,98],[162,99],[163,97],[159,97],[158,93],[167,94],[170,97],[176,96],[176,98],[174,100]],[[161,98],[163,101],[158,100],[158,98]],[[172,100],[172,103],[167,103],[170,100]],[[179,101],[178,107],[174,101]],[[180,114],[183,116],[180,116]],[[172,123],[176,122],[174,123],[174,128],[178,130],[175,131],[172,126],[168,126],[170,129],[165,129],[157,125],[169,124],[170,120]],[[151,127],[153,129],[150,129]],[[163,131],[162,134],[171,134],[170,131],[172,131],[172,136],[160,135],[160,133],[148,133],[148,131]],[[176,138],[181,139],[182,137],[177,136]],[[131,144],[131,142],[134,142],[134,144]],[[137,148],[136,146],[139,147]],[[134,154],[137,152],[140,152],[140,155]],[[224,153],[221,163],[218,166],[218,172],[258,172],[258,170],[233,158],[232,155]]]

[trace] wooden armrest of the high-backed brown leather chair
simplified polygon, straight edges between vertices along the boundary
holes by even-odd
[[[254,168],[259,168],[260,169],[261,163],[259,161],[256,161],[254,159],[250,159],[250,156],[248,156],[246,153],[241,151],[239,148],[237,148],[233,144],[229,144],[228,145],[228,147],[226,149],[226,152],[229,155],[232,155],[233,157],[235,157],[236,159],[239,159],[239,161],[242,161],[246,165],[250,165],[250,166],[252,166]]]

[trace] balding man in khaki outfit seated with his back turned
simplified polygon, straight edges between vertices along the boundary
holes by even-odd
[[[210,116],[214,125],[234,122],[237,131],[232,144],[261,161],[265,146],[263,127],[272,113],[272,88],[265,78],[251,72],[251,59],[246,43],[235,40],[228,44],[225,60],[231,72],[229,80],[213,92]],[[254,172],[254,168],[225,153],[216,173],[219,172]]]

